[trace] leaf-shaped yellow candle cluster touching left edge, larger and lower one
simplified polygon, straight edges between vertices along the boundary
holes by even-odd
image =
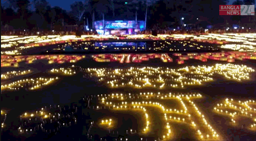
[[[58,77],[22,79],[22,80],[14,81],[14,82],[7,83],[7,84],[1,84],[1,90],[8,89],[8,90],[16,91],[22,87],[25,87],[25,84],[30,86],[29,87],[30,90],[37,90],[38,88],[47,86],[58,79],[59,79]]]

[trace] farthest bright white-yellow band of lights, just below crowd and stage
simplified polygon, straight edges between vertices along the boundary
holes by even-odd
[[[235,35],[235,36],[234,36]],[[14,37],[14,38],[2,38],[1,42],[10,42],[10,41],[21,41],[20,43],[28,43],[29,46],[42,46],[47,44],[56,44],[56,43],[65,43],[65,42],[76,42],[76,41],[90,41],[90,40],[108,40],[108,39],[179,39],[185,40],[190,39],[191,41],[198,42],[209,42],[209,43],[218,43],[223,44],[225,41],[229,42],[243,42],[246,44],[256,45],[255,42],[250,42],[251,36],[256,36],[256,34],[234,34],[234,35],[220,35],[220,34],[208,34],[208,35],[188,35],[188,34],[173,34],[173,35],[158,35],[157,37],[151,35],[125,35],[123,37],[111,36],[111,35],[83,35],[81,38],[77,38],[75,35],[65,35],[65,36],[25,36],[25,37]],[[237,35],[237,36],[236,36]],[[35,39],[34,39],[35,38]],[[222,42],[220,42],[220,40]],[[223,41],[225,40],[225,41]]]

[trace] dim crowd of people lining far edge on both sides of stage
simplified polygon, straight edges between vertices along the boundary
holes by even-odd
[[[256,33],[255,29],[155,29],[158,34],[202,34],[202,33]],[[79,29],[74,31],[1,31],[1,35],[4,36],[48,36],[48,35],[77,35]],[[137,31],[135,34],[151,35],[152,29],[147,29],[144,31]],[[79,31],[81,35],[97,35],[95,30],[89,31]]]

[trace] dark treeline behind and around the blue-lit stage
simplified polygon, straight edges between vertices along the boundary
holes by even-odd
[[[179,26],[206,21],[212,25],[232,25],[255,29],[255,16],[219,16],[219,5],[228,0],[85,0],[70,5],[71,11],[51,7],[46,0],[4,0],[1,25],[20,30],[62,30],[64,25],[89,25],[96,20],[145,20],[147,28]],[[255,0],[237,0],[232,5],[254,5]],[[34,8],[31,8],[34,7]],[[255,9],[256,11],[256,9]],[[221,23],[221,24],[220,24]]]

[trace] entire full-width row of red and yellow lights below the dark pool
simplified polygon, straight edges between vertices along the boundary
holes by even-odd
[[[120,62],[130,63],[148,61],[149,59],[160,58],[163,62],[172,62],[170,55],[178,56],[178,64],[184,64],[186,60],[196,59],[206,62],[208,59],[217,61],[234,62],[235,60],[256,60],[256,53],[241,52],[220,52],[220,53],[173,53],[173,54],[99,54],[93,55],[97,62]],[[19,62],[33,63],[35,60],[49,60],[48,63],[76,62],[85,58],[85,55],[31,55],[31,56],[9,56],[1,55],[1,67],[18,67]]]

